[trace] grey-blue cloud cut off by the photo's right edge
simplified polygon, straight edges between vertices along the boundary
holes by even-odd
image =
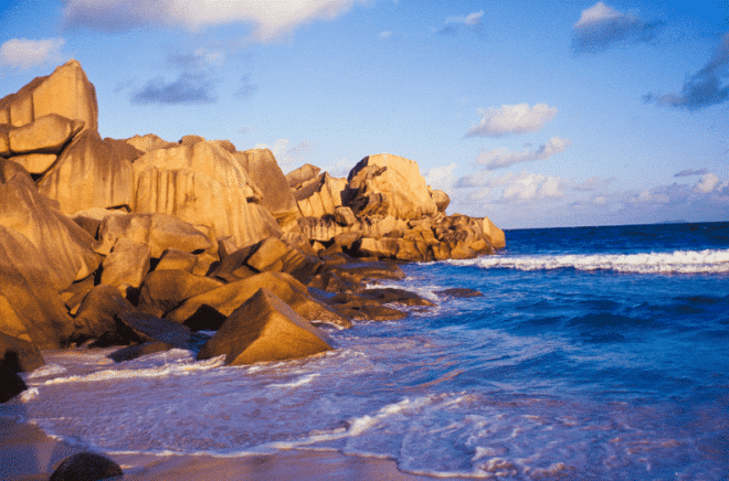
[[[646,94],[643,99],[656,105],[668,105],[696,110],[729,99],[729,33],[725,33],[714,56],[704,68],[688,77],[679,94]]]

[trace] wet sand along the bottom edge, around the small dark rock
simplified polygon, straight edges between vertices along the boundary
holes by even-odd
[[[66,457],[82,446],[59,441],[38,426],[0,416],[0,479],[47,480]],[[125,472],[125,480],[388,480],[432,478],[406,474],[394,461],[344,456],[337,452],[283,451],[242,458],[210,456],[105,455]]]

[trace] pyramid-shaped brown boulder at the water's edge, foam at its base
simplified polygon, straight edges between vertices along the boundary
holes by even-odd
[[[224,354],[225,364],[241,365],[305,357],[332,349],[324,332],[262,288],[225,320],[198,359]]]

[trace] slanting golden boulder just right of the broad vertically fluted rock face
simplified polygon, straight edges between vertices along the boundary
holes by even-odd
[[[300,215],[296,200],[288,190],[284,172],[271,150],[251,149],[245,152],[236,152],[234,156],[251,180],[261,189],[263,194],[261,205],[273,214],[281,226],[295,222],[296,217]]]

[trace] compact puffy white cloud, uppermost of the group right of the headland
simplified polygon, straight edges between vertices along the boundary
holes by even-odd
[[[477,126],[468,130],[466,137],[501,137],[507,133],[536,132],[554,118],[557,107],[547,104],[503,105],[498,108],[478,109],[483,117]]]

